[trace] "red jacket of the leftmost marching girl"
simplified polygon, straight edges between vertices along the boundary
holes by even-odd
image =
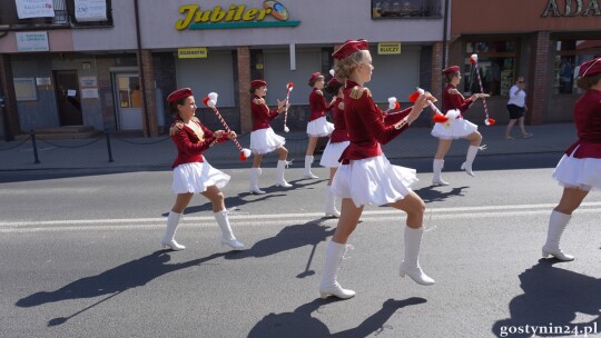
[[[179,118],[176,118],[171,128],[169,128],[169,136],[177,147],[177,158],[171,165],[171,168],[184,163],[203,162],[203,152],[205,150],[213,147],[216,142],[228,140],[225,132],[219,139],[215,138],[213,132],[203,126],[197,118],[193,117],[191,121],[200,127],[203,135],[197,135]]]

